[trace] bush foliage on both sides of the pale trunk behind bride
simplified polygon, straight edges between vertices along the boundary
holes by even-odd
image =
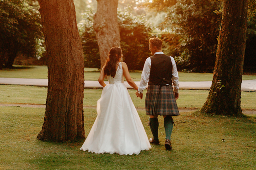
[[[93,15],[92,11],[84,13],[84,20],[79,24],[80,36],[85,55],[85,67],[100,68],[99,47],[93,29]],[[117,17],[124,62],[130,70],[142,69],[146,58],[150,55],[148,40],[152,28],[142,16],[133,16],[128,8],[118,10]]]

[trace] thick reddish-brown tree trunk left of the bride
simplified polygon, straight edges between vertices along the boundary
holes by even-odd
[[[73,0],[39,0],[48,52],[48,93],[43,141],[85,139],[84,61]]]

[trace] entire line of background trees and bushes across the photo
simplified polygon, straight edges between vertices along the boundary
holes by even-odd
[[[165,12],[165,21],[155,29],[129,8],[117,12],[118,26],[123,49],[123,61],[130,70],[140,70],[150,56],[150,37],[158,36],[163,51],[175,57],[179,71],[213,72],[217,39],[221,23],[221,2],[208,0],[171,0],[163,3],[154,0],[145,4],[150,10]],[[79,4],[78,1],[75,4]],[[82,6],[85,7],[85,3]],[[134,4],[133,4],[134,5]],[[42,57],[44,37],[38,4],[33,0],[0,1],[0,68],[12,67],[17,55]],[[82,9],[79,9],[82,11]],[[250,12],[253,12],[249,8]],[[86,7],[79,15],[79,23],[85,67],[101,67],[99,47],[93,28],[93,10]],[[158,31],[156,31],[158,30]],[[162,31],[159,31],[162,30]],[[256,17],[248,21],[244,71],[256,71]]]

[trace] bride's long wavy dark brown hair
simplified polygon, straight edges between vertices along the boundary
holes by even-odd
[[[117,55],[116,55],[117,54]],[[122,49],[118,46],[112,47],[109,51],[108,59],[106,62],[106,66],[104,68],[104,73],[107,74],[107,76],[115,77],[117,72],[117,62],[119,62],[119,59],[122,56]]]

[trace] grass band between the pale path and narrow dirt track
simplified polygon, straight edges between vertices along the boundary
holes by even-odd
[[[96,106],[102,89],[85,89],[84,105]],[[128,90],[135,107],[145,107],[145,95],[141,100],[135,96],[135,90]],[[146,91],[144,92],[144,94]],[[179,108],[201,108],[206,101],[207,90],[179,90],[177,105]],[[0,85],[0,103],[36,103],[45,104],[47,88],[35,86]],[[241,93],[241,108],[256,109],[256,93]]]

